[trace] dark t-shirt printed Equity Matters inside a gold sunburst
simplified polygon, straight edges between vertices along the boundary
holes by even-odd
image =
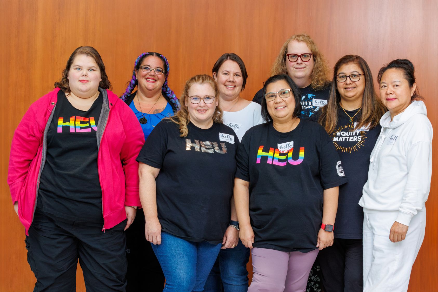
[[[345,113],[346,112],[346,113]],[[343,168],[348,173],[348,183],[339,186],[338,211],[334,236],[343,239],[361,239],[364,224],[364,211],[359,205],[362,189],[368,180],[370,155],[379,137],[381,126],[370,128],[369,125],[354,130],[361,112],[357,109],[343,111],[338,108],[338,123],[330,138],[338,151]],[[350,117],[354,117],[350,122]],[[349,116],[347,116],[347,114]],[[312,120],[317,121],[320,114]]]

